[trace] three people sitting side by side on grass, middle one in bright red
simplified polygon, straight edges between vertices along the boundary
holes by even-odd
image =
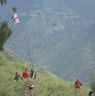
[[[26,78],[36,78],[36,74],[34,73],[33,70],[28,71],[28,69],[25,69],[22,75],[20,75],[18,72],[15,73],[15,80],[19,81],[20,79],[26,79]]]

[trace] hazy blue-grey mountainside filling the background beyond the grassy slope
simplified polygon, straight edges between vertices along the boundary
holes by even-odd
[[[13,37],[6,46],[29,59],[28,47],[34,63],[45,66],[63,79],[79,77],[89,81],[89,74],[86,73],[94,70],[95,61],[94,2],[35,1],[32,7],[29,6],[30,10],[23,10],[24,3],[18,7],[22,21],[11,26]],[[28,46],[25,46],[25,42],[28,42]],[[87,68],[86,64],[90,67],[92,61],[93,68]]]

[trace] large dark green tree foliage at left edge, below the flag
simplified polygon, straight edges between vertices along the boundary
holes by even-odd
[[[3,51],[4,43],[11,36],[12,31],[10,30],[6,21],[1,22],[0,25],[0,50]]]

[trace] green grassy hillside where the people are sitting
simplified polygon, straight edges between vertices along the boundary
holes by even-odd
[[[19,60],[18,60],[19,61]],[[24,85],[27,80],[15,81],[15,72],[22,74],[24,66],[19,62],[10,61],[0,54],[0,96],[22,96]],[[37,79],[31,80],[35,86],[36,96],[74,96],[75,91],[73,83],[60,80],[57,76],[49,71],[34,66],[37,72]],[[87,96],[85,86],[81,89],[77,96]]]

